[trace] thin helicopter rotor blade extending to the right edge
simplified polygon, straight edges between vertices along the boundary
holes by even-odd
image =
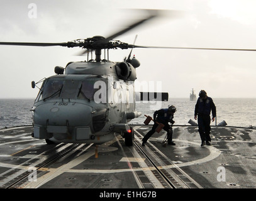
[[[230,51],[256,51],[256,49],[240,49],[240,48],[190,48],[178,46],[140,46],[129,45],[130,48],[159,48],[159,49],[181,49],[181,50],[230,50]]]

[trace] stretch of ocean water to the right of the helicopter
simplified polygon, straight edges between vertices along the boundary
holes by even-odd
[[[219,124],[225,121],[227,126],[249,127],[256,126],[256,99],[214,99],[216,106],[216,122],[211,122],[211,125]],[[162,102],[162,108],[167,108],[169,105],[174,105],[177,111],[174,114],[176,125],[190,125],[189,119],[197,122],[194,119],[194,107],[196,100],[189,99],[170,99],[167,102]],[[133,124],[143,124],[147,114],[153,117],[154,109],[149,109],[150,104],[136,104],[138,111],[142,112],[142,116],[133,119]],[[211,116],[212,117],[212,116]]]

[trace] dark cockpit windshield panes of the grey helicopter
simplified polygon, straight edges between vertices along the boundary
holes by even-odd
[[[94,85],[97,81],[105,83],[102,78],[89,77],[84,80],[49,79],[42,85],[42,91],[36,101],[48,99],[79,99],[94,100],[94,94],[99,90]]]

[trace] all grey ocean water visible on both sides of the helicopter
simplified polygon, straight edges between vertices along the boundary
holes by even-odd
[[[256,99],[214,99],[217,109],[217,124],[226,121],[227,126],[249,127],[256,126]],[[0,128],[31,125],[31,107],[34,99],[0,99]],[[137,103],[136,110],[142,116],[130,121],[131,124],[143,124],[146,117],[152,116],[159,108],[169,105],[177,107],[174,115],[176,125],[190,125],[189,119],[194,120],[194,106],[196,101],[189,99],[170,99],[167,102]],[[211,122],[214,125],[215,122]]]

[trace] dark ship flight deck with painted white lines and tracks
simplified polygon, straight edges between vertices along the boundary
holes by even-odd
[[[31,138],[32,126],[0,130],[0,188],[256,188],[256,129],[212,126],[211,146],[198,128],[165,131],[131,125],[133,146],[116,137],[99,144],[47,144]]]

